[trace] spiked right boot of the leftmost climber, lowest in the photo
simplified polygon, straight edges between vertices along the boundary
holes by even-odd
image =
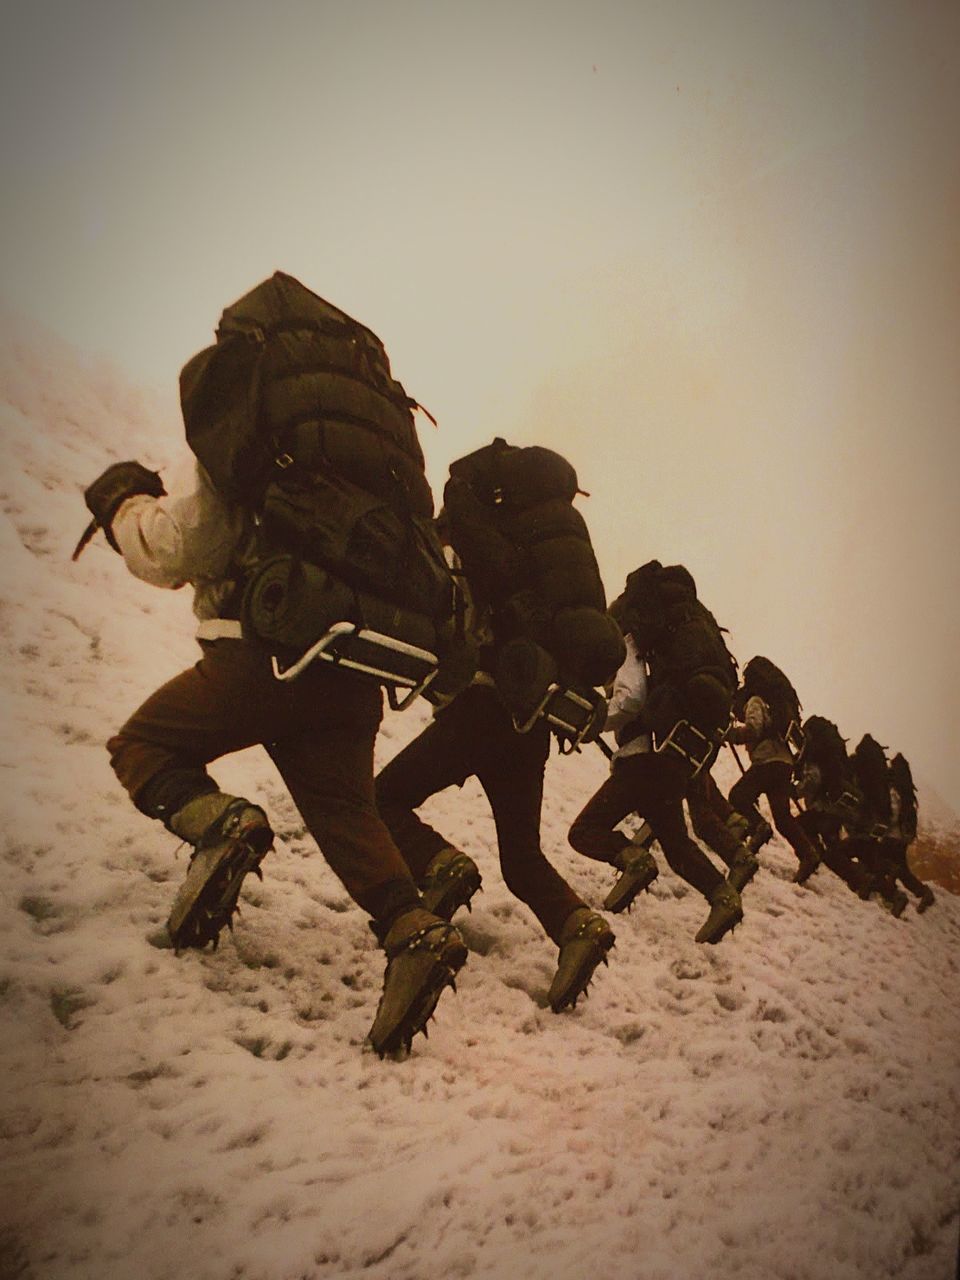
[[[445,987],[456,989],[456,977],[467,959],[454,925],[420,906],[394,922],[383,948],[383,995],[367,1036],[380,1057],[406,1055],[417,1032],[428,1034],[426,1024],[438,1000]]]

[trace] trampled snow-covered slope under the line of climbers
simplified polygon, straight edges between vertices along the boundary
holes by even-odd
[[[406,1062],[361,1050],[381,957],[273,767],[219,780],[278,847],[215,954],[145,938],[186,865],[104,740],[195,658],[189,602],[69,554],[81,490],[178,422],[49,342],[4,356],[0,1275],[32,1280],[947,1280],[960,1201],[960,899],[893,920],[762,855],[744,925],[664,867],[590,998],[504,891],[474,786],[431,801],[485,892]],[[655,548],[652,548],[652,554]],[[389,717],[387,760],[424,722]],[[604,776],[553,758],[544,847]],[[732,781],[722,776],[721,781]],[[923,803],[923,796],[920,797]]]

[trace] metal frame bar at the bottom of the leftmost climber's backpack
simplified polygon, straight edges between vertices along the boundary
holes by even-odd
[[[393,710],[408,707],[436,675],[436,654],[428,649],[358,627],[356,622],[334,622],[289,667],[282,667],[274,655],[274,676],[283,681],[296,680],[317,658],[383,681]],[[397,687],[408,692],[398,698]]]

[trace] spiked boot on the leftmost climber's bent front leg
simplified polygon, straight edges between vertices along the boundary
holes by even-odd
[[[273,849],[266,814],[239,796],[210,791],[170,818],[170,831],[193,845],[187,878],[166,920],[177,951],[216,946],[230,925],[243,878],[261,876],[260,863]]]

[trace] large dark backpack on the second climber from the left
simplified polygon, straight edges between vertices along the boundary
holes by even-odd
[[[550,689],[589,698],[626,655],[573,506],[580,492],[561,454],[500,438],[454,462],[444,488],[451,545],[490,608],[494,678],[517,723]],[[593,732],[599,727],[591,723]]]

